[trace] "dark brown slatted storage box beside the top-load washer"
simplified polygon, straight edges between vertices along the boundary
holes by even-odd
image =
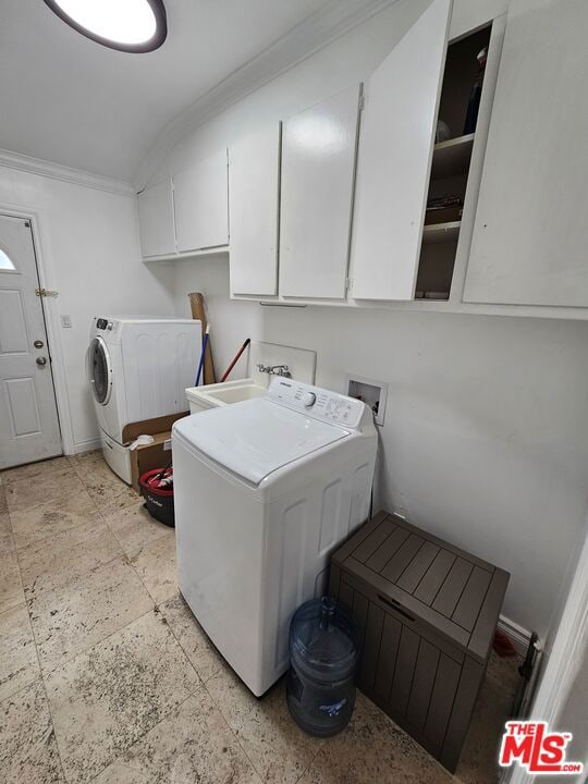
[[[379,512],[333,555],[330,592],[363,630],[357,685],[454,771],[509,574]]]

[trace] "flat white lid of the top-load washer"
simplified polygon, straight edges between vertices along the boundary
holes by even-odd
[[[183,417],[175,434],[253,485],[322,446],[351,436],[348,430],[310,419],[266,397]]]

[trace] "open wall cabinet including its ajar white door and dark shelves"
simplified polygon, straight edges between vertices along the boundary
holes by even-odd
[[[504,20],[458,28],[448,45],[451,5],[431,0],[425,13],[415,10],[402,45],[367,84],[348,279],[355,301],[461,296]],[[417,120],[427,133],[415,133]]]

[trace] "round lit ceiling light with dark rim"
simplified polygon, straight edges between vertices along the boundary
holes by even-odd
[[[60,19],[91,40],[125,52],[158,49],[168,35],[162,0],[45,0]]]

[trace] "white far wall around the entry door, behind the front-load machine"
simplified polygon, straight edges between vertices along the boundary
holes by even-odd
[[[53,372],[66,452],[96,445],[84,357],[91,318],[117,313],[173,313],[172,271],[140,260],[136,207],[123,196],[0,167],[0,211],[36,212]],[[59,315],[72,317],[62,329]],[[52,340],[51,340],[52,339]]]

